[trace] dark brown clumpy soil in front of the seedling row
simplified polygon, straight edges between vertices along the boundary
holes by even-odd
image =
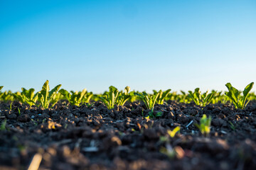
[[[45,110],[1,102],[0,169],[36,160],[39,169],[256,169],[256,101],[244,110],[167,101],[156,104],[160,111],[146,118],[139,102],[112,110],[101,102]],[[195,125],[203,114],[212,118],[208,136]],[[170,137],[176,126],[180,133]]]

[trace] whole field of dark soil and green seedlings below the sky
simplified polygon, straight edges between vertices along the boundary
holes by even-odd
[[[0,169],[256,169],[253,83],[152,94],[60,86],[0,93]]]

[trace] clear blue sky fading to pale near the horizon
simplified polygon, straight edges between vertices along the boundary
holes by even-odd
[[[242,90],[256,83],[256,1],[0,0],[0,60],[11,91]]]

